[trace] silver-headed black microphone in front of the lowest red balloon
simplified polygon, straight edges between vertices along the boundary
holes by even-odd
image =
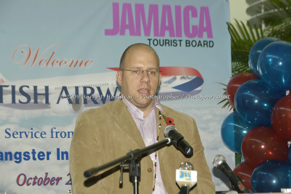
[[[223,155],[214,156],[212,163],[216,168],[220,169],[225,175],[227,175],[229,180],[238,190],[242,191],[243,193],[247,193],[246,187],[243,185],[240,178],[234,174],[229,165],[227,165]]]

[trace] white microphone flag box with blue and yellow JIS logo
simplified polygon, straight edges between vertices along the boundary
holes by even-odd
[[[176,169],[176,183],[180,188],[184,185],[192,188],[197,183],[197,171]]]

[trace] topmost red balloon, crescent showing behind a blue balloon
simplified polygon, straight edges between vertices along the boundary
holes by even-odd
[[[226,86],[226,95],[229,95],[229,98],[227,99],[228,102],[234,107],[234,95],[241,86],[241,84],[245,83],[246,81],[252,80],[252,79],[258,79],[253,73],[240,73],[236,76],[233,76],[227,86]]]

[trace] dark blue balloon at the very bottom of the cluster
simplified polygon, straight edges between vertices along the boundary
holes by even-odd
[[[253,170],[251,188],[255,193],[281,192],[281,188],[291,188],[291,165],[278,159],[262,162]]]

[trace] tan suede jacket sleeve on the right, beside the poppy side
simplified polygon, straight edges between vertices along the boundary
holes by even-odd
[[[212,182],[212,176],[204,155],[204,147],[202,146],[197,125],[194,119],[193,119],[193,133],[190,142],[191,142],[190,145],[193,148],[193,156],[191,157],[192,161],[191,163],[193,164],[194,170],[197,171],[197,185],[194,187],[191,193],[214,194],[215,186]]]

